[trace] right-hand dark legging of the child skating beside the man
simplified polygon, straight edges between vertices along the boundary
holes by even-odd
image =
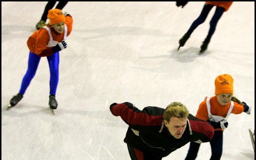
[[[220,160],[223,147],[223,131],[215,131],[210,144],[212,149],[210,160]]]

